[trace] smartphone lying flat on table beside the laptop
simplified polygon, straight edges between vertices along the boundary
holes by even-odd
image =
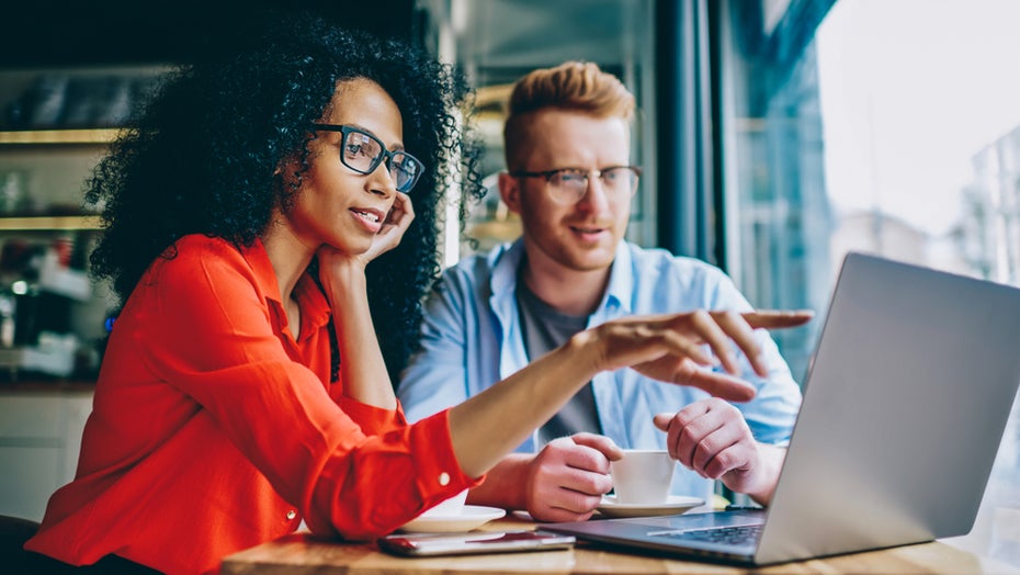
[[[379,549],[406,557],[473,555],[517,551],[551,551],[574,546],[573,535],[547,531],[475,531],[471,533],[394,534],[377,541]]]

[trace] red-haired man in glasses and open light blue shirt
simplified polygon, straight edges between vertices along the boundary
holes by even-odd
[[[499,193],[523,235],[446,270],[430,295],[422,350],[398,387],[409,419],[463,402],[613,318],[706,309],[721,325],[744,322],[751,305],[721,270],[624,239],[641,177],[631,165],[633,116],[634,97],[593,64],[569,61],[517,82]],[[739,358],[757,390],[750,402],[660,385],[634,370],[601,373],[468,503],[546,521],[587,519],[612,488],[609,462],[625,448],[668,449],[683,465],[673,494],[707,500],[721,480],[768,504],[801,393],[769,335],[747,332],[767,365],[757,374]]]

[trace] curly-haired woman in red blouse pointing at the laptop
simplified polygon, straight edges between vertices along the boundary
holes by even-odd
[[[25,545],[39,572],[215,572],[303,520],[388,533],[480,483],[601,370],[746,396],[695,363],[705,341],[735,370],[727,336],[750,337],[684,314],[581,332],[406,422],[390,376],[439,271],[447,167],[473,157],[466,93],[417,50],[311,18],[168,80],[88,192],[93,271],[124,305],[76,478]]]

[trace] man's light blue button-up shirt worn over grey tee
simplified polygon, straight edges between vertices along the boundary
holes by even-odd
[[[443,273],[426,304],[422,350],[411,358],[397,390],[409,420],[456,405],[528,364],[514,297],[523,256],[518,240],[465,258]],[[743,312],[751,305],[718,268],[624,241],[616,248],[608,289],[588,327],[627,315],[694,309]],[[757,376],[740,354],[743,377],[758,394],[735,405],[759,441],[785,444],[801,391],[768,332],[759,329],[756,335],[769,375]],[[602,432],[625,449],[665,449],[666,433],[651,417],[709,397],[701,390],[657,382],[631,369],[599,373],[592,390]],[[534,436],[517,451],[536,451]],[[713,482],[678,466],[672,493],[707,500]]]

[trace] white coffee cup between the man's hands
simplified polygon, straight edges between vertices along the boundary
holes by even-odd
[[[676,467],[676,460],[665,449],[623,450],[623,459],[610,462],[616,503],[666,503]]]

